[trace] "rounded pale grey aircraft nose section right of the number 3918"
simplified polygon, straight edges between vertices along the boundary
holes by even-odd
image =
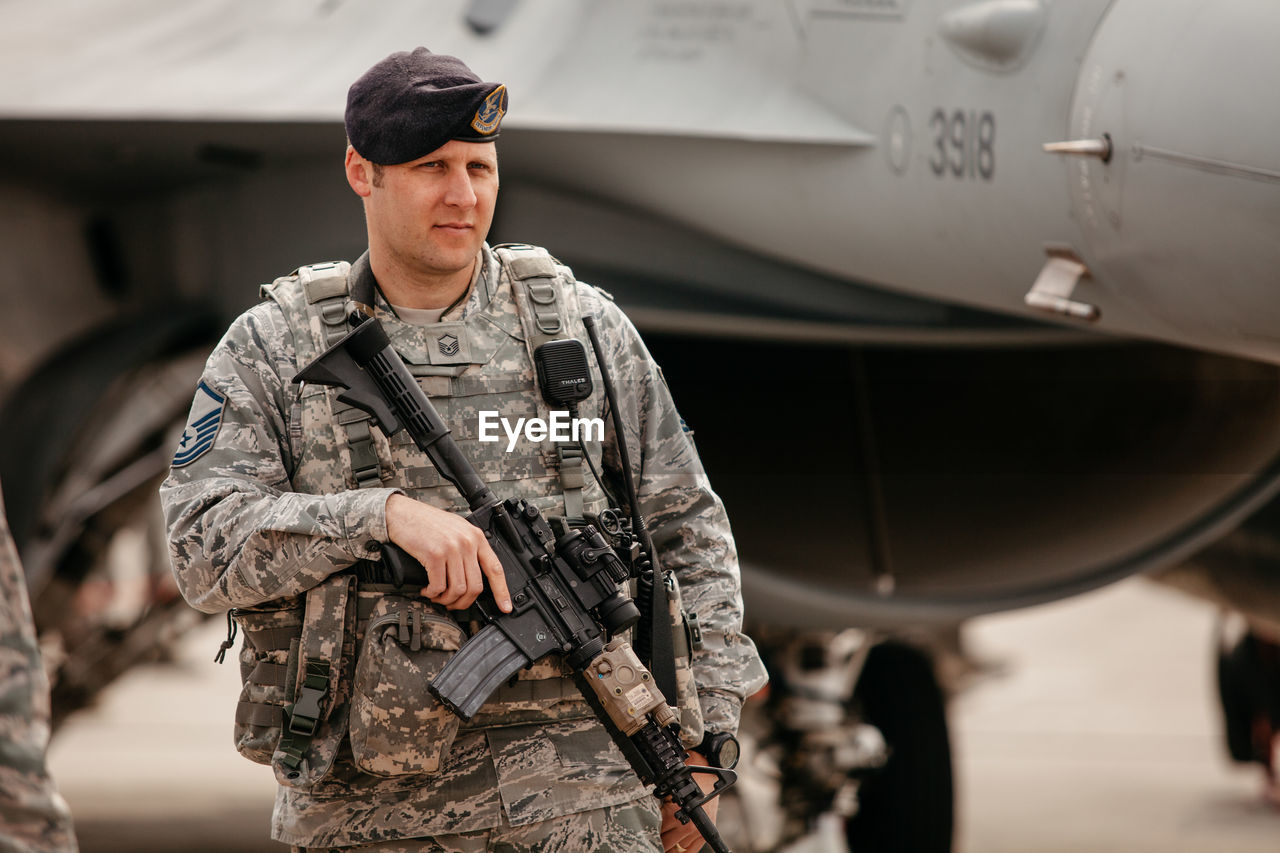
[[[1119,0],[1084,58],[1064,158],[1096,282],[1204,346],[1280,359],[1280,5]]]

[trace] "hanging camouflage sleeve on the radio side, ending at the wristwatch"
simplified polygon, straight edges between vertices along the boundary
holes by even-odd
[[[580,292],[608,351],[640,510],[658,561],[676,573],[685,610],[698,613],[701,626],[704,644],[692,653],[692,670],[704,722],[709,730],[736,731],[742,702],[768,675],[755,644],[742,634],[737,551],[724,506],[635,327],[613,302],[586,288]],[[612,420],[605,424],[605,453],[612,455],[607,465],[617,466]]]

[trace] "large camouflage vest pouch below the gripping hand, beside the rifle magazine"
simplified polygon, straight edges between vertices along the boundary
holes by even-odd
[[[463,640],[430,603],[383,596],[369,616],[356,665],[351,751],[375,776],[440,772],[462,720],[426,689]]]

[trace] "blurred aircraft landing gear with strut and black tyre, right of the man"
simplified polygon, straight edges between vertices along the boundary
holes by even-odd
[[[950,853],[945,697],[925,652],[845,631],[753,631],[772,678],[748,702],[721,806],[739,853]]]

